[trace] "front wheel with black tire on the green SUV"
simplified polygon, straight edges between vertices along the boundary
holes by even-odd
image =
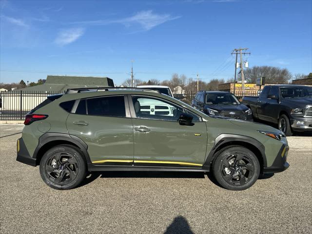
[[[249,149],[231,146],[224,149],[214,160],[213,173],[216,181],[228,190],[250,188],[260,174],[258,158]]]

